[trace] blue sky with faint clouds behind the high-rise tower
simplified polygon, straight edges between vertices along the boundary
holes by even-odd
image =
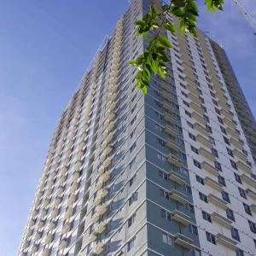
[[[227,2],[199,26],[224,45],[256,115],[256,36]],[[256,3],[241,0],[256,17]],[[0,256],[17,254],[61,111],[127,0],[0,0]]]

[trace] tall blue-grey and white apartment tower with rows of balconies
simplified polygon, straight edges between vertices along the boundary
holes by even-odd
[[[137,90],[151,2],[131,2],[61,115],[20,256],[256,255],[253,115],[200,30],[166,32],[168,75]]]

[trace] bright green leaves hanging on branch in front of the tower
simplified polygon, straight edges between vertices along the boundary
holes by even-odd
[[[165,4],[161,9],[150,7],[148,14],[143,15],[142,20],[136,21],[137,36],[149,37],[148,32],[153,32],[148,40],[148,45],[142,55],[136,60],[128,61],[132,66],[137,67],[137,88],[147,94],[151,74],[159,74],[165,79],[167,64],[170,61],[167,49],[172,48],[172,44],[163,32],[163,29],[171,33],[177,33],[176,26],[168,19],[168,15],[174,15],[179,19],[179,28],[182,33],[190,32],[196,36],[196,18],[198,9],[196,0],[170,0],[170,4]],[[224,0],[205,0],[207,10],[213,13],[217,9],[223,9]]]

